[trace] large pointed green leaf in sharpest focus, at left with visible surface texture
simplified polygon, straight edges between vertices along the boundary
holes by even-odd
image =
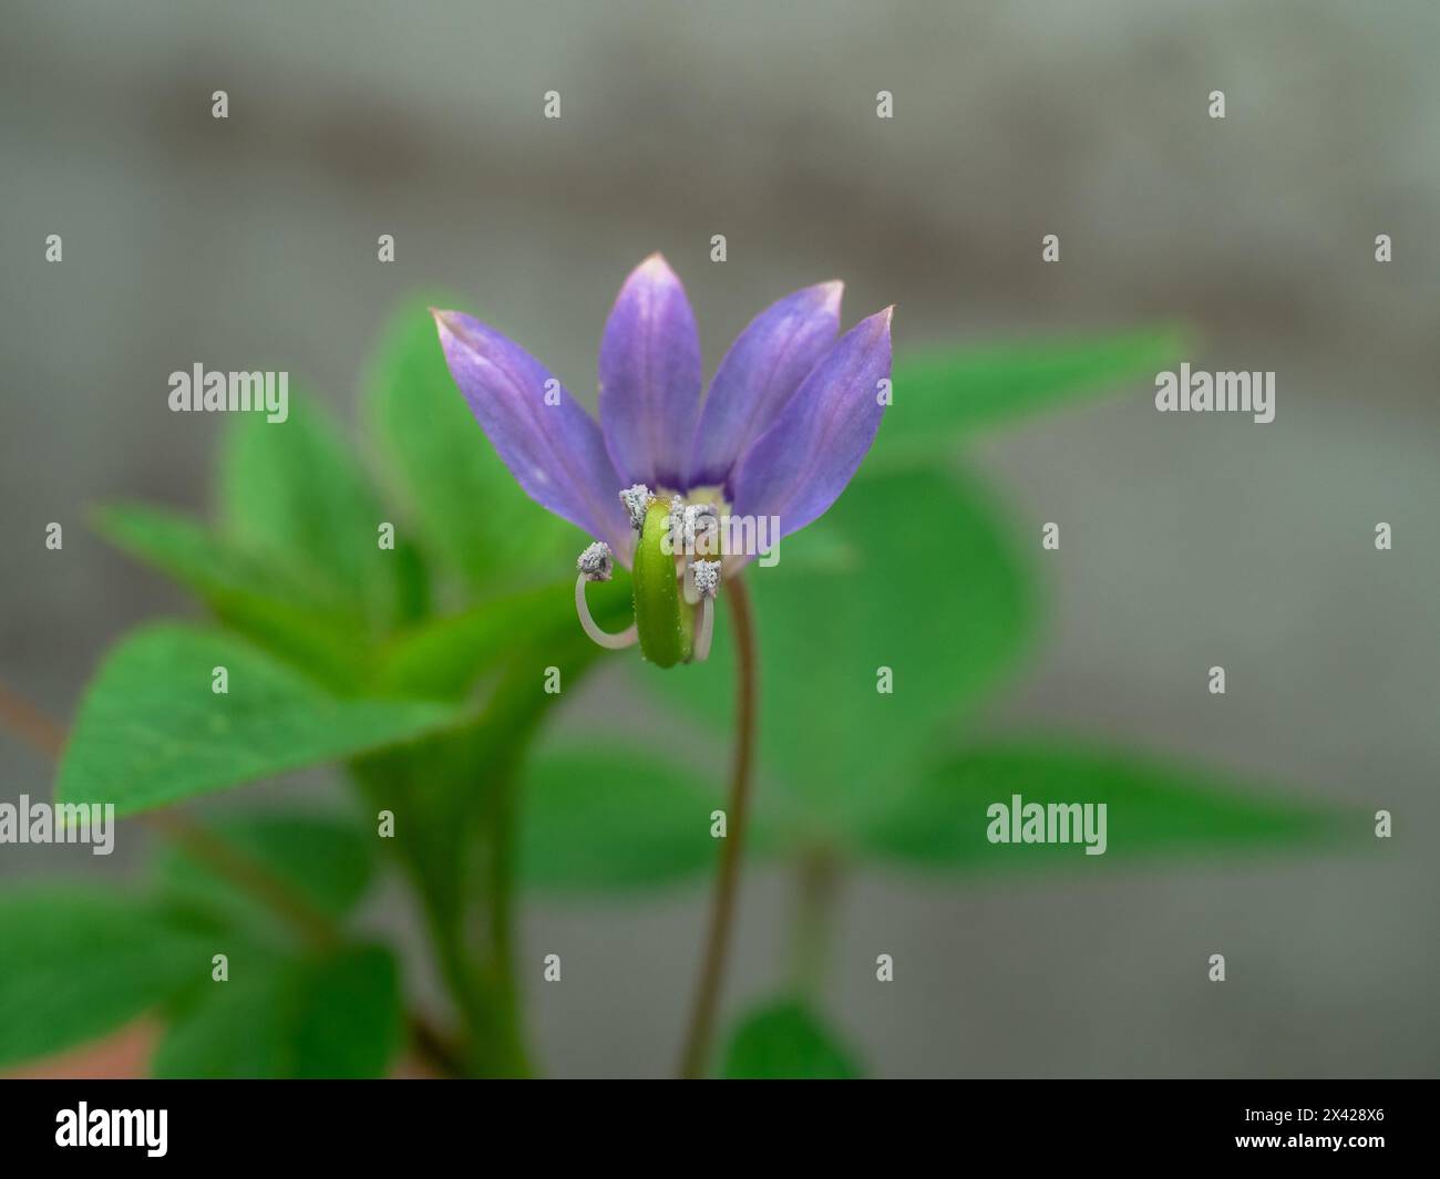
[[[215,668],[228,694],[212,691]],[[232,635],[160,623],[125,638],[81,703],[56,796],[120,813],[406,741],[456,720],[419,701],[334,697]]]

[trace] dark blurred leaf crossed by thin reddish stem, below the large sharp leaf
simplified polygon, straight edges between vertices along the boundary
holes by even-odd
[[[228,848],[258,864],[278,882],[300,893],[320,911],[340,918],[360,901],[374,877],[376,836],[343,819],[292,812],[235,815],[210,823]],[[164,894],[249,921],[261,908],[249,893],[212,861],[181,845],[166,848],[157,862]]]

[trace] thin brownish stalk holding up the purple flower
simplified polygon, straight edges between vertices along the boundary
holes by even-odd
[[[680,1060],[680,1075],[703,1077],[710,1060],[720,985],[724,980],[726,956],[730,949],[730,926],[734,918],[736,891],[740,884],[740,859],[744,851],[744,825],[750,809],[750,774],[755,763],[755,704],[757,692],[755,661],[755,619],[744,582],[736,577],[724,587],[734,625],[736,649],[736,720],[734,754],[730,763],[730,793],[726,839],[720,845],[720,869],[710,904],[710,933],[706,939],[700,985],[690,1013],[690,1031]]]

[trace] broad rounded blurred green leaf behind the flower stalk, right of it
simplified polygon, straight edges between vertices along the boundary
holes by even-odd
[[[831,536],[805,554],[814,530]],[[822,533],[822,534],[824,534]],[[756,599],[763,767],[804,800],[821,839],[844,838],[943,721],[994,687],[1034,620],[1027,570],[968,476],[890,472],[852,484],[824,521],[744,573]],[[730,731],[730,619],[707,664],[644,668],[657,695]],[[893,692],[877,691],[890,668]]]

